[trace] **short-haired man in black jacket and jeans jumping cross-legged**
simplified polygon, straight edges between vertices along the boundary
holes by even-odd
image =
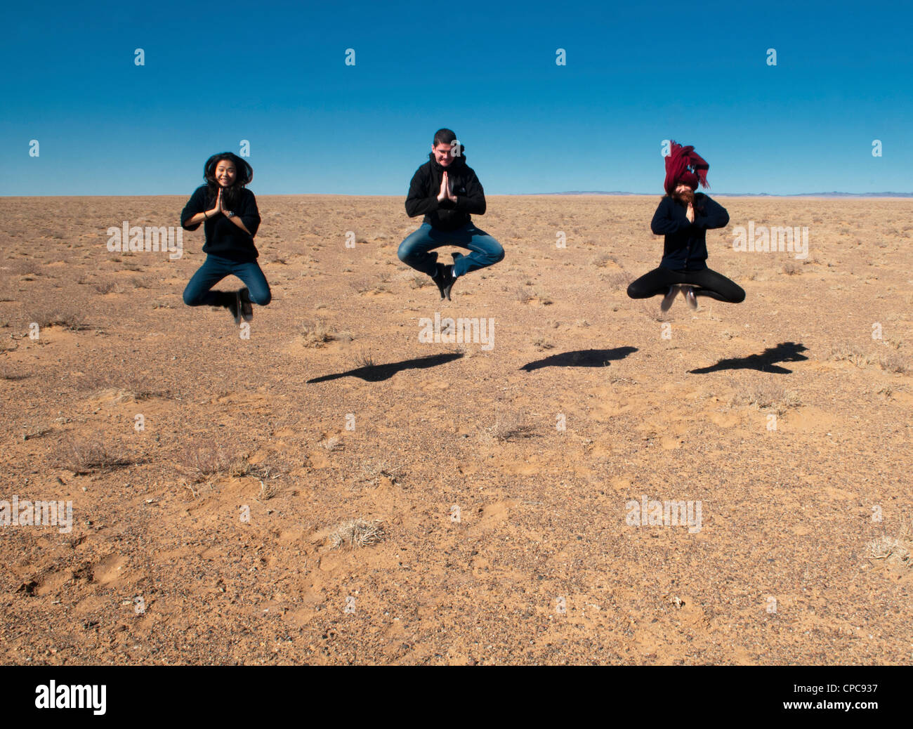
[[[476,173],[466,164],[456,134],[439,129],[428,161],[415,170],[405,199],[409,217],[424,215],[421,227],[400,244],[397,255],[405,264],[428,274],[441,299],[450,300],[454,281],[469,271],[484,269],[504,258],[497,240],[472,223],[470,213],[485,213],[485,191]],[[452,264],[437,262],[434,248],[457,246],[472,251],[454,253]]]

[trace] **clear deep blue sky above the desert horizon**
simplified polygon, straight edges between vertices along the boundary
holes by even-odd
[[[664,139],[711,195],[913,191],[897,2],[12,5],[0,195],[190,195],[242,139],[257,194],[405,195],[442,126],[488,194],[660,192]]]

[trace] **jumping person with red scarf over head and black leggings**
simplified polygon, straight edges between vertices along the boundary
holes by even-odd
[[[698,296],[739,303],[745,291],[725,276],[707,268],[707,231],[729,224],[729,213],[709,195],[696,192],[709,187],[710,165],[694,151],[672,143],[666,157],[666,195],[659,201],[650,229],[665,236],[659,268],[645,273],[628,286],[632,299],[662,295],[660,309],[667,312],[679,291],[691,309],[698,308]]]

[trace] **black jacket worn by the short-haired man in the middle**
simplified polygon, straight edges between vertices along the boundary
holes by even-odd
[[[445,169],[453,183],[456,203],[446,198],[437,202]],[[436,163],[435,153],[430,152],[428,161],[412,175],[409,195],[405,198],[405,212],[409,217],[424,215],[425,223],[440,230],[456,230],[472,219],[469,213],[485,214],[485,190],[472,167],[466,164],[465,155],[454,157],[449,166],[442,167]]]

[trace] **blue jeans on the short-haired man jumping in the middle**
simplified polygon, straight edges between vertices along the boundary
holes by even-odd
[[[422,223],[400,243],[396,255],[407,266],[434,276],[437,272],[437,254],[430,251],[441,246],[457,246],[471,250],[468,256],[458,255],[454,262],[457,277],[477,269],[484,269],[504,258],[504,248],[497,240],[471,222],[456,230],[438,230],[430,223]]]

